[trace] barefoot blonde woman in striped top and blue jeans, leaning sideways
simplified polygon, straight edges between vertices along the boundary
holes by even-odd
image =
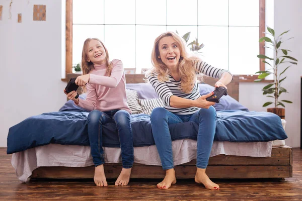
[[[176,183],[168,125],[192,121],[199,124],[195,181],[208,189],[218,190],[219,186],[205,173],[215,134],[216,111],[212,107],[215,103],[206,100],[212,92],[200,95],[196,74],[218,78],[215,87],[225,87],[233,75],[228,70],[208,65],[198,57],[189,56],[184,40],[173,32],[163,33],[155,40],[152,63],[153,68],[146,77],[164,102],[164,108],[156,108],[151,114],[154,140],[166,170],[164,180],[157,184],[158,188],[168,189]]]

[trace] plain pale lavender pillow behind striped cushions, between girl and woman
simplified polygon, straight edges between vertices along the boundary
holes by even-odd
[[[135,90],[138,94],[138,98],[141,99],[159,98],[150,83],[128,83],[126,84],[126,88]]]

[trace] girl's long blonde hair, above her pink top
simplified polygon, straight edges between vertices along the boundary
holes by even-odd
[[[106,65],[107,65],[107,73],[110,76],[111,71],[112,71],[112,64],[109,60],[108,50],[105,47],[104,43],[98,38],[88,38],[84,42],[83,51],[82,51],[82,61],[81,61],[83,75],[88,74],[92,69],[94,69],[94,64],[91,61],[88,61],[89,42],[91,40],[97,40],[103,45],[103,47],[105,49],[105,53],[106,53],[105,60],[106,60]]]

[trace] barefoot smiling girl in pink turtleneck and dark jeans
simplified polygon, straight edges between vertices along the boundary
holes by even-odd
[[[133,142],[123,63],[117,59],[110,61],[104,44],[97,38],[88,38],[83,46],[82,69],[83,75],[77,77],[75,83],[87,90],[87,98],[75,98],[76,91],[69,92],[67,97],[75,105],[91,111],[87,122],[91,155],[95,164],[94,181],[97,186],[107,186],[103,165],[102,125],[114,122],[118,130],[123,164],[115,185],[127,185],[133,164]]]

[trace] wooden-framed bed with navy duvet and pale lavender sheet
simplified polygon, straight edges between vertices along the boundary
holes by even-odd
[[[135,120],[136,124],[141,124],[145,121],[144,125],[138,127],[146,129],[133,132],[133,134],[136,133],[136,135],[139,134],[145,137],[134,140],[136,145],[134,147],[135,163],[132,168],[131,178],[163,178],[165,172],[162,170],[156,146],[152,142],[152,135],[145,135],[148,132],[152,132],[149,131],[148,127],[150,126],[148,125],[148,114],[153,107],[157,106],[158,102],[154,100],[158,100],[158,97],[154,93],[149,94],[146,83],[141,83],[143,82],[142,78],[143,75],[141,74],[126,75],[127,98],[132,101],[131,98],[134,96],[137,100],[137,102],[134,101],[135,103],[128,102],[131,107],[134,107],[134,109],[130,107],[132,111],[136,113],[133,115],[133,120]],[[209,85],[213,85],[215,81],[213,78],[205,77],[204,82],[206,85],[203,85],[202,88],[211,90],[212,88],[209,88]],[[133,92],[137,92],[136,97],[132,94]],[[206,93],[207,91],[203,92]],[[262,112],[259,118],[260,112],[247,111],[244,106],[237,102],[239,98],[238,92],[239,77],[234,76],[233,81],[228,85],[229,95],[221,98],[220,105],[217,104],[216,110],[219,121],[217,120],[216,134],[207,174],[210,178],[292,177],[292,151],[284,143],[284,139],[287,138],[284,132],[286,121],[273,117],[274,120],[270,122],[267,121],[266,116],[268,115],[269,119],[272,119],[271,115],[273,114]],[[232,101],[230,98],[232,98]],[[137,103],[140,108],[135,106]],[[85,117],[88,111],[71,111],[68,108],[68,104],[70,102],[66,102],[60,112],[44,114],[48,118],[47,124],[52,124],[53,127],[47,126],[46,129],[42,125],[44,130],[39,130],[38,123],[40,119],[31,117],[10,128],[8,154],[12,154],[12,165],[16,170],[17,177],[22,182],[26,182],[30,178],[93,178],[94,165],[87,141],[88,138],[85,135]],[[75,106],[73,105],[72,107],[74,108]],[[77,113],[77,115],[72,112]],[[144,114],[140,114],[141,112]],[[73,125],[71,127],[73,132],[70,132],[72,133],[71,137],[64,133],[58,135],[54,132],[55,128],[58,127],[57,122],[60,120],[57,116],[58,114],[63,117],[67,116],[71,122],[75,121],[73,119],[74,116],[82,118],[79,121],[77,120],[77,127],[71,124]],[[265,116],[263,120],[261,120],[262,115]],[[246,122],[242,126],[235,126],[234,129],[236,130],[232,130],[233,128],[225,129],[224,121],[231,118],[231,122],[234,122],[238,117],[242,118],[240,121]],[[56,122],[52,122],[49,119],[53,119]],[[264,122],[264,125],[260,125],[262,123],[257,123],[257,121]],[[35,129],[33,129],[33,125],[35,125]],[[180,134],[173,135],[175,171],[177,178],[194,178],[196,171],[194,129],[196,129],[196,125],[185,126],[179,125],[179,127],[170,128],[170,130],[174,129],[176,131],[185,129],[185,131],[180,131]],[[253,131],[251,136],[238,134],[245,132],[240,130],[245,126]],[[278,129],[276,130],[276,128]],[[40,133],[37,133],[37,130]],[[70,131],[70,129],[67,130]],[[108,130],[110,130],[109,127]],[[174,133],[177,133],[176,131]],[[54,134],[52,133],[54,137],[51,132],[54,132]],[[184,133],[186,135],[183,135]],[[28,140],[28,137],[22,140],[24,136],[34,137],[31,140]],[[239,136],[242,137],[242,141],[238,140],[240,139]],[[21,137],[19,144],[14,140],[17,137],[18,139]],[[69,138],[76,140],[68,141]],[[134,136],[133,139],[137,139],[137,137]],[[122,168],[120,149],[118,144],[116,144],[116,139],[110,136],[108,136],[107,141],[104,141],[104,158],[106,162],[104,165],[106,177],[117,178]]]

